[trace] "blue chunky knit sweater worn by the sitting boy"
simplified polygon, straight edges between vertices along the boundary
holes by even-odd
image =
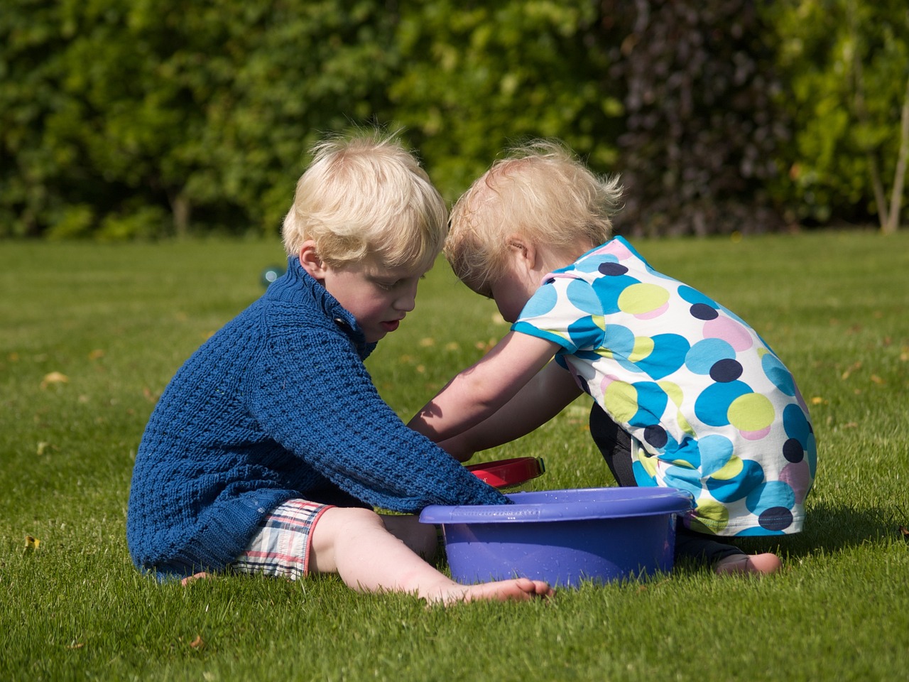
[[[135,457],[126,537],[158,577],[225,567],[293,497],[416,512],[503,504],[378,395],[354,317],[295,257],[180,368]]]

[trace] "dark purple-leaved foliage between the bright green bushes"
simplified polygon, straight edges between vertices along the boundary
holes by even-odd
[[[756,232],[779,226],[765,190],[786,128],[766,27],[748,0],[607,0],[622,224],[646,234]]]

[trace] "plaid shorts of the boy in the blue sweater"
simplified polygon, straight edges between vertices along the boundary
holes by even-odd
[[[331,505],[290,499],[265,517],[249,547],[231,567],[241,573],[305,577],[309,567],[311,536],[316,521]]]

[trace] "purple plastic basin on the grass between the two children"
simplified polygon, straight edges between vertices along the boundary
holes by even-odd
[[[440,525],[452,577],[469,585],[529,577],[554,586],[608,582],[673,567],[684,490],[600,487],[513,493],[513,505],[427,506]]]

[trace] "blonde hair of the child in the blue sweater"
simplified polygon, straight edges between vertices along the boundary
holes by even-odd
[[[433,265],[448,230],[445,200],[397,135],[358,130],[311,153],[282,228],[288,255],[312,239],[332,267],[369,254],[386,267]]]

